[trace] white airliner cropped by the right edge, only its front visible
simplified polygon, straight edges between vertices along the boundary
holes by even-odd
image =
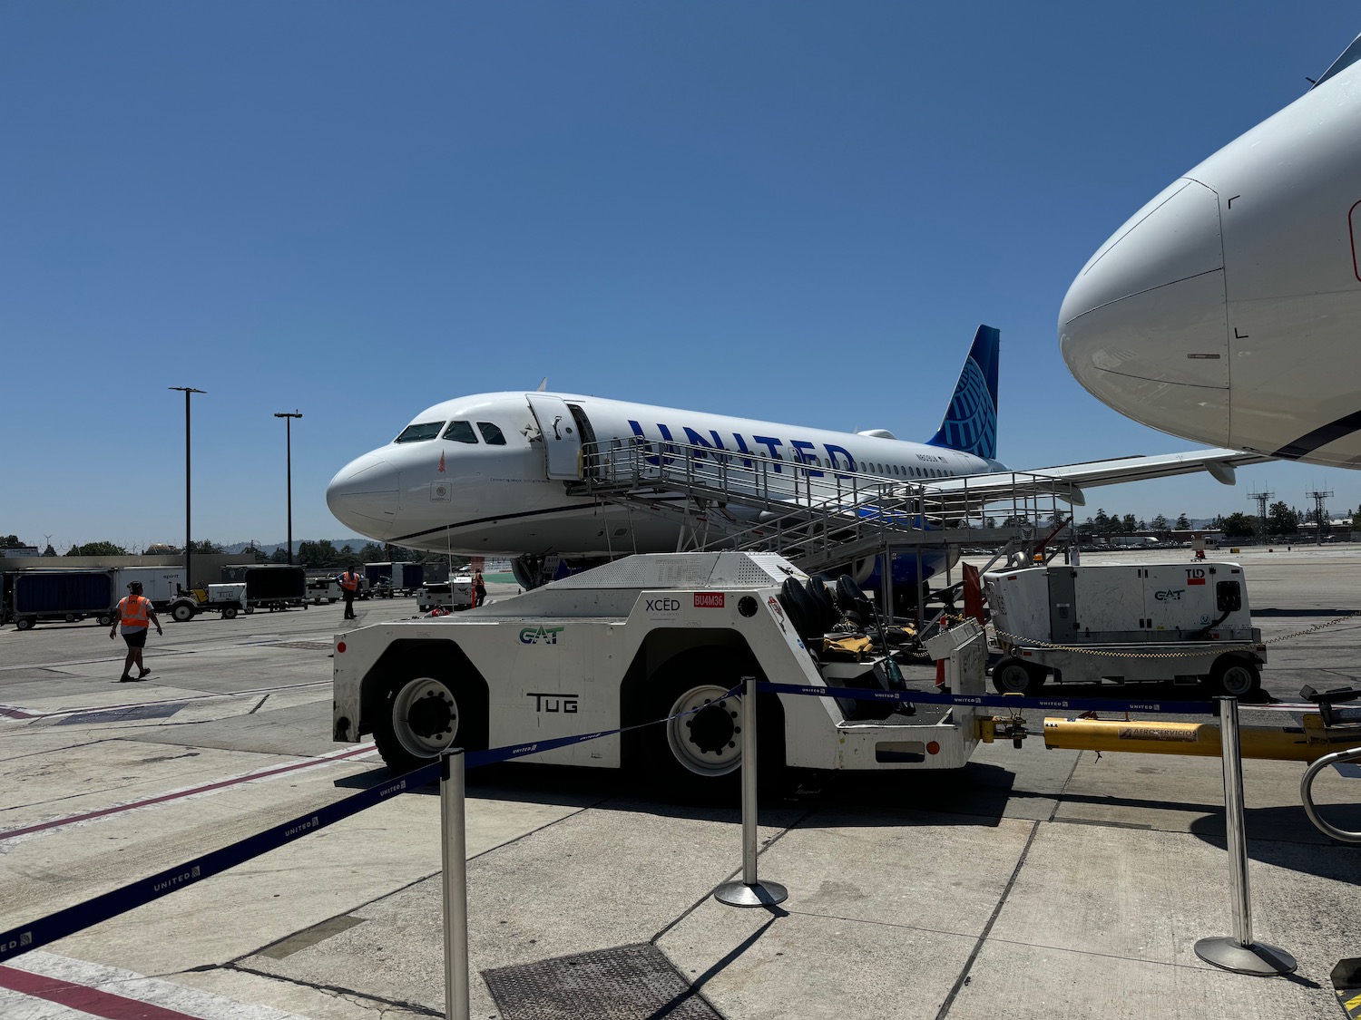
[[[1361,37],[1092,256],[1059,313],[1078,382],[1187,439],[1361,466],[1358,169]]]

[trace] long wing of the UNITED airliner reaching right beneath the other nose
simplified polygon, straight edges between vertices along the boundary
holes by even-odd
[[[1015,495],[1057,495],[1074,506],[1083,506],[1082,490],[1090,486],[1117,486],[1124,481],[1209,472],[1225,486],[1234,483],[1234,468],[1271,460],[1256,453],[1211,449],[1187,453],[1164,453],[1154,457],[1117,457],[1085,464],[1063,464],[1036,471],[1006,471],[992,475],[942,479],[931,484],[932,491],[979,499],[1010,499]]]

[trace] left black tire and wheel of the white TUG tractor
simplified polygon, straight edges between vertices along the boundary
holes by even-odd
[[[438,760],[446,747],[487,747],[487,703],[480,684],[457,683],[433,664],[410,664],[408,676],[382,691],[373,719],[378,753],[395,774]]]

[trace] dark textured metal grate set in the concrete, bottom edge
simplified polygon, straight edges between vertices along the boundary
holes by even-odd
[[[655,945],[482,971],[505,1020],[721,1020]]]

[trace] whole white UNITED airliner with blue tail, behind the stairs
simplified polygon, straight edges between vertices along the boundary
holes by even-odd
[[[599,560],[676,548],[674,520],[569,491],[581,476],[583,445],[633,447],[659,464],[668,442],[712,449],[713,457],[766,458],[772,477],[787,477],[791,491],[804,476],[857,472],[936,488],[968,480],[974,496],[994,480],[1000,496],[1014,477],[996,460],[998,348],[998,330],[980,326],[945,420],[925,443],[883,430],[837,432],[568,393],[480,393],[422,411],[392,442],[347,464],[331,480],[327,503],[343,524],[380,541],[516,558],[517,579],[534,586],[544,556]],[[1196,471],[1232,484],[1236,464],[1260,460],[1199,450],[1040,473],[1081,502],[1074,487]],[[938,564],[924,567],[930,575]]]

